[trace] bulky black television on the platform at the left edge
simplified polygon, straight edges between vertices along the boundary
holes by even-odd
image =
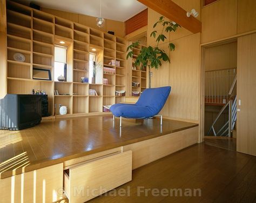
[[[6,94],[0,99],[0,129],[21,130],[41,123],[41,96]]]

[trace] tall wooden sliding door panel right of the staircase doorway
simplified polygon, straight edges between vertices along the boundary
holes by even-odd
[[[237,151],[256,155],[256,34],[238,38]]]

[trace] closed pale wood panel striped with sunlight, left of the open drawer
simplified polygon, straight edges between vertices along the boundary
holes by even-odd
[[[63,164],[0,180],[0,202],[53,202],[62,199]]]

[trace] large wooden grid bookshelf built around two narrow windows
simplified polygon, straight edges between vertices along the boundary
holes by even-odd
[[[103,105],[125,101],[115,92],[126,91],[125,38],[110,35],[88,26],[69,21],[16,2],[6,2],[7,16],[7,77],[8,93],[30,94],[32,89],[48,94],[50,116],[61,117],[59,107],[68,107],[68,116],[102,113]],[[69,43],[68,82],[54,81],[54,47],[60,40]],[[102,63],[97,84],[81,83],[81,77],[89,78],[89,55],[92,48],[98,51]],[[24,62],[14,59],[15,53],[25,56]],[[110,60],[116,63],[109,64]],[[33,68],[51,72],[51,80],[33,79]],[[103,67],[114,69],[104,73]],[[97,73],[98,74],[98,73]],[[103,84],[103,78],[108,84]],[[98,96],[90,96],[89,89]],[[58,95],[55,95],[58,90]]]

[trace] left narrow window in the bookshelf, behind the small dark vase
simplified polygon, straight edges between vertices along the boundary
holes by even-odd
[[[64,76],[66,81],[66,50],[65,46],[55,45],[54,48],[54,80],[58,81],[59,76]]]

